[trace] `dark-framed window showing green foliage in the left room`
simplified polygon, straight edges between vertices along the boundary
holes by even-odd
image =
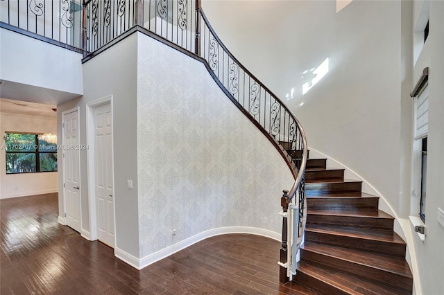
[[[6,174],[57,171],[57,135],[6,133]]]

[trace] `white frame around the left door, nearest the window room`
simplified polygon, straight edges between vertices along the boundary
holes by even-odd
[[[62,147],[65,147],[67,143],[65,142],[65,126],[63,126],[63,123],[65,121],[65,116],[68,114],[74,113],[74,111],[77,111],[77,138],[80,144],[80,107],[73,107],[72,109],[67,109],[66,111],[62,111]],[[80,150],[77,152],[78,157],[78,186],[80,186],[80,190],[78,190],[79,193],[79,202],[80,202],[80,233],[83,232],[83,213],[82,213],[82,179],[80,177],[80,171],[81,171],[81,162],[80,162]],[[63,163],[63,169],[62,169],[62,175],[63,175],[63,225],[67,225],[67,196],[66,196],[66,165],[65,165],[65,151],[62,148],[62,163]]]

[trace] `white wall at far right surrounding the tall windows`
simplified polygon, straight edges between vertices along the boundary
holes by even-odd
[[[418,23],[423,1],[414,2],[413,27]],[[422,69],[429,67],[429,132],[427,136],[427,199],[425,225],[427,235],[420,240],[407,224],[413,238],[413,249],[417,257],[418,273],[422,294],[444,294],[444,228],[437,222],[437,209],[444,210],[444,2],[429,1],[429,37],[418,54],[413,68],[413,85]],[[427,22],[427,21],[426,21]],[[413,104],[413,102],[411,102]],[[413,138],[411,138],[411,142]],[[418,199],[414,200],[419,202]],[[417,207],[416,207],[417,208]],[[411,215],[418,212],[412,209]]]

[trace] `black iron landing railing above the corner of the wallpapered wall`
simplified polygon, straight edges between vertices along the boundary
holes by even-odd
[[[89,53],[135,25],[194,52],[196,10],[193,0],[87,0],[85,8],[85,51]]]

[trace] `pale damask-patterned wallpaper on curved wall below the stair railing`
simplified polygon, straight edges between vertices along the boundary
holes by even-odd
[[[280,232],[278,151],[201,62],[141,33],[137,48],[139,257],[226,226]]]

